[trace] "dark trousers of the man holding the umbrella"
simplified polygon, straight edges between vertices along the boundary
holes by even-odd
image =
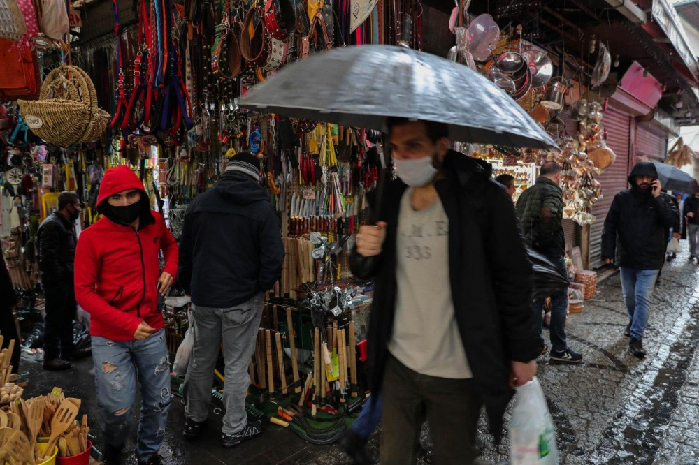
[[[434,443],[435,465],[473,463],[482,405],[473,379],[419,374],[389,355],[382,397],[382,465],[417,463],[425,420]]]

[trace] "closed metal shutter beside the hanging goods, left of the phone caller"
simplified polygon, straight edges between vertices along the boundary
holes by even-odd
[[[592,206],[595,222],[590,227],[589,266],[591,269],[602,265],[602,231],[605,218],[612,206],[614,195],[626,189],[626,178],[628,178],[630,117],[612,108],[607,108],[602,117],[602,124],[607,130],[607,145],[614,150],[614,154],[617,154],[617,161],[614,161],[598,177],[600,184],[602,184],[603,198]]]

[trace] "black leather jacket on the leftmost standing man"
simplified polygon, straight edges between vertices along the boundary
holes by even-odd
[[[36,233],[41,282],[44,286],[73,283],[75,236],[73,224],[59,212],[53,212],[41,222]]]

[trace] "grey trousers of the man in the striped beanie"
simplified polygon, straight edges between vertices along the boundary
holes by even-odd
[[[231,309],[196,307],[192,304],[194,348],[185,376],[187,418],[195,422],[206,420],[214,368],[223,342],[226,362],[223,404],[226,413],[222,432],[236,434],[245,428],[245,395],[250,386],[247,367],[254,353],[263,306],[264,293]]]

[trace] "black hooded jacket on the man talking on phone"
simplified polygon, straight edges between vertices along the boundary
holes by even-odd
[[[602,258],[619,256],[620,267],[660,270],[665,263],[667,231],[679,221],[670,195],[653,197],[636,185],[637,176],[658,177],[653,163],[636,163],[628,177],[631,189],[614,196],[602,233]]]

